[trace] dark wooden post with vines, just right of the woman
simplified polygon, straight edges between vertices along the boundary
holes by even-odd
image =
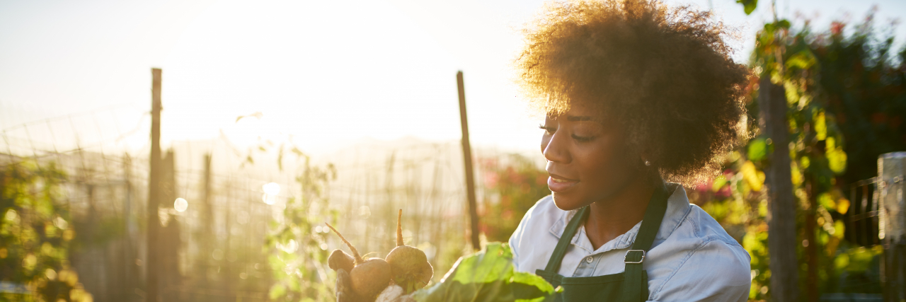
[[[795,196],[790,171],[786,91],[765,75],[758,84],[759,123],[773,141],[770,165],[765,168],[768,193],[767,246],[770,252],[771,297],[776,302],[799,299],[796,261]]]

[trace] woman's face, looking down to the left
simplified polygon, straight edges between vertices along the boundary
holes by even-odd
[[[541,128],[541,152],[547,159],[547,187],[564,211],[606,201],[637,177],[636,161],[629,156],[622,129],[599,111],[572,106],[559,116],[548,116]]]

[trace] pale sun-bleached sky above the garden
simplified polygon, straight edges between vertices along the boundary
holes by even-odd
[[[668,1],[713,7],[740,27],[742,63],[769,15],[761,2],[746,16],[733,0]],[[542,3],[0,0],[0,150],[97,141],[144,148],[152,67],[163,69],[165,146],[221,133],[240,145],[292,136],[315,153],[364,137],[458,139],[463,71],[473,145],[533,150],[539,120],[518,98],[508,64],[520,24]],[[777,8],[822,30],[834,19],[861,21],[874,4],[879,25],[906,16],[906,1],[778,0]],[[236,123],[255,112],[263,118]],[[17,127],[56,117],[72,118]]]

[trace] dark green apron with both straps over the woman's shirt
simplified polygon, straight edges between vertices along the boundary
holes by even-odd
[[[660,221],[667,211],[667,187],[660,182],[651,195],[648,209],[641,221],[641,228],[632,243],[632,248],[626,252],[623,262],[626,269],[619,274],[594,276],[594,277],[563,277],[557,274],[560,262],[564,259],[566,247],[573,240],[579,224],[588,217],[588,206],[583,207],[573,216],[566,225],[554,254],[547,261],[545,269],[537,269],[535,274],[545,278],[547,282],[556,287],[563,287],[563,292],[556,294],[554,301],[579,302],[579,301],[622,301],[638,302],[648,298],[648,274],[641,267],[645,260],[645,253],[651,249],[654,236],[660,229]]]

